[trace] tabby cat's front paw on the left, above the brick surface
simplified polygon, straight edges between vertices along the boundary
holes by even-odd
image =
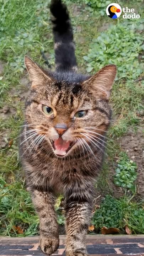
[[[59,247],[59,238],[46,238],[41,236],[39,245],[41,247],[41,250],[46,255],[51,255],[55,251],[58,250]]]

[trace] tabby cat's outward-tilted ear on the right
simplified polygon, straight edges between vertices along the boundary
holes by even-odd
[[[107,65],[100,69],[91,78],[84,81],[82,84],[89,87],[95,96],[100,96],[108,99],[111,95],[112,84],[117,73],[116,65]]]

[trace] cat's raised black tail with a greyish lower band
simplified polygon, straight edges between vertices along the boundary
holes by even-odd
[[[75,44],[68,9],[61,0],[52,0],[50,11],[53,23],[56,70],[75,72],[77,69]]]

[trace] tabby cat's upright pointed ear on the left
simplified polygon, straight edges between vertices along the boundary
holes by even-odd
[[[36,88],[44,83],[44,81],[51,81],[52,79],[38,66],[32,59],[25,56],[25,65],[30,77],[32,88]]]

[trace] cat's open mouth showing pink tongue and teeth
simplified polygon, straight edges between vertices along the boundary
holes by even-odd
[[[64,156],[68,151],[75,145],[75,142],[65,141],[62,137],[59,137],[57,140],[50,140],[54,153],[57,156]]]

